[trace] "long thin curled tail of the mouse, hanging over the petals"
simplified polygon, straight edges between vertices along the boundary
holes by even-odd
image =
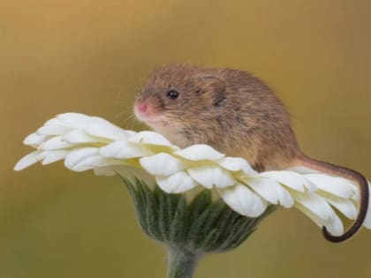
[[[355,170],[347,169],[345,167],[337,166],[328,162],[317,161],[307,157],[306,155],[298,157],[296,161],[297,166],[304,166],[309,169],[322,171],[328,173],[329,175],[345,177],[359,184],[360,211],[359,214],[357,215],[355,222],[353,222],[351,228],[348,229],[343,235],[335,237],[329,234],[329,231],[326,229],[326,227],[322,227],[323,236],[333,243],[341,243],[354,236],[358,232],[358,230],[362,227],[367,214],[369,199],[367,178]]]

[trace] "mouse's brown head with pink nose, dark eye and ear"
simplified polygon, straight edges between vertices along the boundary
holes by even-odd
[[[155,70],[136,98],[135,115],[159,132],[212,120],[219,115],[226,92],[226,84],[217,73],[184,64]]]

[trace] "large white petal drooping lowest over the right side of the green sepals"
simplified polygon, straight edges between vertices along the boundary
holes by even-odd
[[[224,202],[239,214],[257,217],[267,208],[267,202],[249,190],[246,185],[236,184],[223,189],[218,188],[217,191]]]

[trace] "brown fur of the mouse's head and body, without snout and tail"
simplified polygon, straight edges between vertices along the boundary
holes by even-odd
[[[178,100],[166,99],[170,89],[180,93]],[[259,170],[287,168],[299,150],[282,101],[245,71],[170,64],[153,72],[143,100],[169,119],[173,134],[165,135],[181,147],[205,143]]]

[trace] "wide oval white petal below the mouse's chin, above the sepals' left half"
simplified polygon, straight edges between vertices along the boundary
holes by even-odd
[[[155,154],[140,158],[140,165],[154,176],[170,176],[186,169],[186,164],[170,154]]]

